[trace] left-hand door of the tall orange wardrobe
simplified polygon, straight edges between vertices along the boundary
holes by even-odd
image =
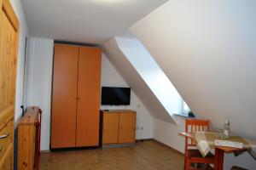
[[[78,47],[55,44],[51,117],[53,149],[76,146],[78,65]]]

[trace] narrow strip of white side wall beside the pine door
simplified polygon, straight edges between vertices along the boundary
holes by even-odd
[[[15,9],[15,14],[17,15],[20,22],[20,37],[18,44],[18,56],[17,56],[17,80],[16,80],[16,101],[15,101],[15,124],[20,119],[22,110],[20,105],[22,105],[23,98],[23,77],[24,77],[24,59],[25,59],[25,44],[26,37],[28,36],[28,28],[26,25],[26,18],[21,6],[20,0],[10,1],[13,8]]]

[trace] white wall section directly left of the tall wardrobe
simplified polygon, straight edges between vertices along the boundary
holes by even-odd
[[[41,150],[49,150],[51,79],[53,65],[52,39],[29,38],[28,40],[27,105],[39,106],[42,113]]]

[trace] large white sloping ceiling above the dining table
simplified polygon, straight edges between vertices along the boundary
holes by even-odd
[[[197,116],[256,139],[256,1],[171,0],[130,30]]]

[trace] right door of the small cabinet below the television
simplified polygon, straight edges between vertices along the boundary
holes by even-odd
[[[124,112],[119,114],[119,143],[134,143],[136,130],[136,113]]]

